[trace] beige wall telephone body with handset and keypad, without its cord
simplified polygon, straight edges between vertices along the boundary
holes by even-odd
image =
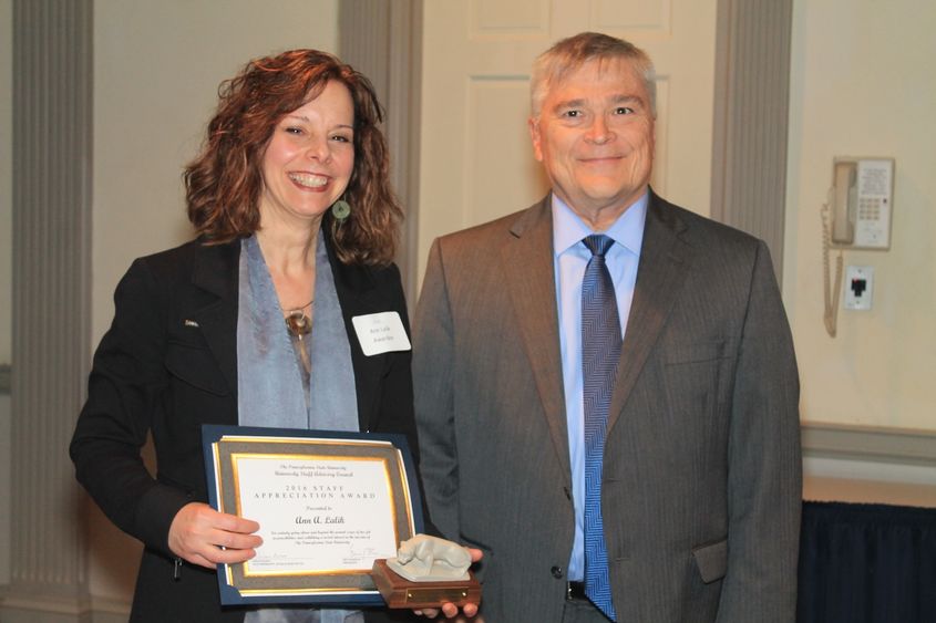
[[[894,158],[835,158],[832,246],[891,248]]]

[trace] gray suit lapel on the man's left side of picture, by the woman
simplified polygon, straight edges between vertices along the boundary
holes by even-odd
[[[533,368],[556,456],[570,486],[568,427],[563,401],[551,197],[524,211],[501,250],[506,288]]]

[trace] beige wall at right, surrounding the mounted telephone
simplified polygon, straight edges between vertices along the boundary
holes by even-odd
[[[796,0],[793,15],[784,299],[803,419],[936,430],[936,4]],[[837,155],[896,158],[889,251],[873,309],[823,325],[819,211]],[[936,484],[930,470],[928,479]]]

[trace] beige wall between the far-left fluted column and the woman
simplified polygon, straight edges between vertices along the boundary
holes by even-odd
[[[192,237],[182,167],[218,83],[255,56],[337,46],[338,0],[95,0],[92,343],[133,258]],[[121,611],[140,547],[96,509],[91,525],[92,594],[99,610]]]

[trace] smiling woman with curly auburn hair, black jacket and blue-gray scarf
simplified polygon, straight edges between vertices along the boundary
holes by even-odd
[[[219,96],[184,174],[197,239],[137,259],[117,285],[71,444],[78,479],[145,544],[132,621],[380,620],[222,609],[215,565],[261,540],[206,503],[200,440],[205,423],[369,430],[415,453],[409,344],[368,356],[352,322],[383,314],[409,332],[380,105],[315,50],[255,60]]]

